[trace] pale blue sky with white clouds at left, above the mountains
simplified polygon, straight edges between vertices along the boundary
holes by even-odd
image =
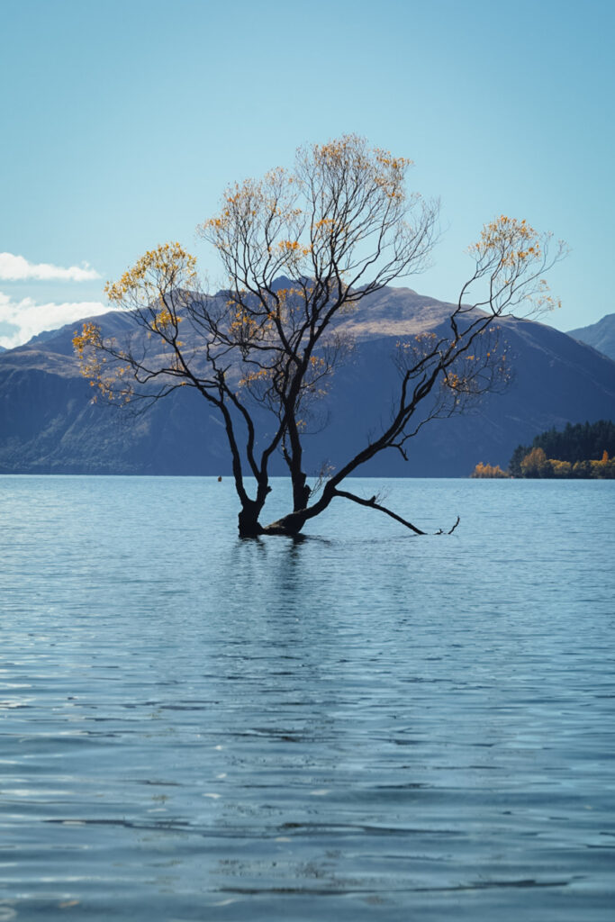
[[[547,322],[615,311],[611,0],[0,0],[0,23],[2,345],[106,309],[159,242],[217,278],[195,225],[224,187],[347,132],[441,198],[400,284],[454,299],[505,213],[571,247]]]

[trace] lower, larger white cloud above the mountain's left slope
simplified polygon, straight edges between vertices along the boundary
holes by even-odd
[[[109,307],[101,304],[101,301],[37,304],[31,298],[12,301],[8,295],[0,291],[0,329],[8,326],[15,331],[0,336],[0,346],[15,349],[43,330],[57,330],[60,326],[72,324],[83,317],[107,311]]]

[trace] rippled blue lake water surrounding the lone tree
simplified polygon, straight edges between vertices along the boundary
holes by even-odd
[[[612,918],[615,483],[385,486],[0,478],[0,922]]]

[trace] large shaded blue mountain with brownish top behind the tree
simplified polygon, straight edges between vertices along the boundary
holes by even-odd
[[[308,473],[317,473],[325,461],[338,467],[381,431],[398,387],[396,343],[437,329],[450,313],[451,305],[415,291],[384,289],[341,318],[356,345],[306,435]],[[106,313],[97,322],[107,336],[134,329],[125,313]],[[615,420],[615,361],[550,326],[517,320],[499,325],[514,369],[506,392],[487,396],[466,416],[430,423],[408,443],[408,462],[389,450],[358,474],[465,477],[479,461],[506,467],[516,445],[531,443],[552,426]],[[139,417],[92,404],[73,356],[77,326],[42,334],[0,356],[0,472],[230,474],[222,424],[192,388]],[[271,417],[258,414],[259,425],[273,427]],[[272,473],[286,473],[281,458]]]

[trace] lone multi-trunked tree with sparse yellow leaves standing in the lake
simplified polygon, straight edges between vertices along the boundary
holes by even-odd
[[[132,313],[135,335],[120,343],[86,324],[75,336],[97,396],[147,408],[188,386],[217,411],[244,538],[296,535],[338,498],[423,534],[377,497],[342,489],[344,480],[387,449],[406,457],[423,425],[503,384],[507,368],[494,321],[515,307],[527,315],[553,306],[542,276],[562,257],[563,244],[550,253],[550,235],[525,220],[503,216],[485,225],[468,250],[473,270],[444,333],[397,344],[399,387],[388,420],[311,489],[303,463],[307,424],[352,348],[339,322],[374,291],[419,272],[432,252],[438,207],[408,194],[409,166],[357,136],[300,149],[293,171],[276,169],[227,189],[219,215],[199,228],[224,266],[222,296],[203,294],[195,258],[167,243],[106,287],[112,304]],[[280,287],[280,277],[291,281]],[[276,452],[288,467],[292,509],[263,526]]]

